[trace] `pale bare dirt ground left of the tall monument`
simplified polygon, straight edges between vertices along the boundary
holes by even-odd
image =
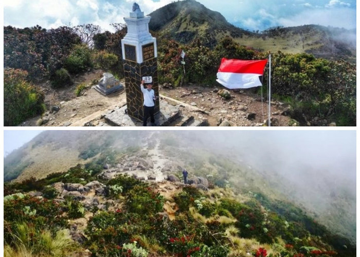
[[[124,90],[103,96],[93,88],[102,74],[102,70],[86,72],[75,78],[74,85],[65,88],[52,88],[49,81],[38,85],[44,92],[48,111],[28,119],[21,126],[83,126],[87,120],[100,119],[108,109],[126,104]],[[124,81],[121,83],[124,85]],[[86,88],[77,97],[75,90],[79,84],[85,84]]]

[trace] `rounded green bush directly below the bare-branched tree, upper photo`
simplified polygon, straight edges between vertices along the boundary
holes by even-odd
[[[86,45],[76,45],[65,60],[65,68],[71,74],[78,74],[92,66],[91,50]]]

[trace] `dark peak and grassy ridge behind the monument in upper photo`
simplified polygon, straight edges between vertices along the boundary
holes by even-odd
[[[149,15],[152,31],[183,44],[199,39],[203,45],[214,47],[230,36],[241,45],[261,51],[307,52],[315,57],[356,61],[355,30],[304,25],[250,32],[233,26],[221,13],[194,0],[173,2]]]

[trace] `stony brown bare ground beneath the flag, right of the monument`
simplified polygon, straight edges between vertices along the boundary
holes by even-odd
[[[218,126],[224,120],[228,120],[231,126],[261,126],[266,123],[268,105],[265,100],[261,101],[261,96],[250,93],[248,89],[228,90],[230,98],[224,99],[219,95],[223,89],[221,86],[185,85],[174,89],[160,87],[160,94],[203,110],[199,112],[183,107],[182,113],[195,119],[206,118],[209,126]],[[291,118],[285,116],[289,113],[289,106],[272,101],[271,113],[272,125],[293,125]]]

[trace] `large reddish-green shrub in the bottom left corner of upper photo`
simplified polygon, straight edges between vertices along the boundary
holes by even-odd
[[[16,126],[45,111],[44,95],[27,82],[28,73],[20,69],[4,70],[4,125]]]

